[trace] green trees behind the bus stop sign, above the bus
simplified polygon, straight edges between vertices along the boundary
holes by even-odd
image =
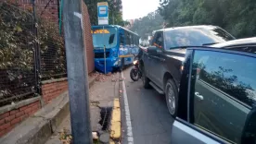
[[[97,25],[97,3],[98,2],[108,2],[109,4],[109,25],[127,25],[127,21],[122,19],[122,0],[84,0],[88,13],[90,15],[90,21],[92,25]]]

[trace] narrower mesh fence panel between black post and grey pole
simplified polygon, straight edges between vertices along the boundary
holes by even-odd
[[[40,23],[38,33],[41,80],[67,77],[64,39],[59,36],[58,25],[56,22],[41,21]]]

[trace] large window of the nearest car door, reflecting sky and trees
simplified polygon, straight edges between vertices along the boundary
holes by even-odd
[[[255,64],[256,58],[250,56],[195,51],[191,122],[220,138],[240,143],[247,122],[251,122],[251,109],[256,106]]]

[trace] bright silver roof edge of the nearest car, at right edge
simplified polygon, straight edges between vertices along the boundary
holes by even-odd
[[[231,47],[231,46],[238,46],[238,45],[254,45],[254,44],[256,45],[256,37],[217,43],[217,44],[211,45],[211,47],[222,48],[222,47]]]

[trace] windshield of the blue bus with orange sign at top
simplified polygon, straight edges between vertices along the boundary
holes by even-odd
[[[117,28],[93,28],[94,48],[112,48],[117,45]]]

